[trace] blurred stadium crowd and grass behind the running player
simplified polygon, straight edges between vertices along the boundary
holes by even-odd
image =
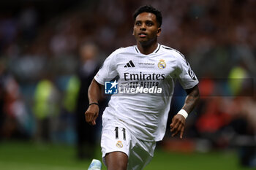
[[[146,169],[255,169],[255,0],[1,0],[0,169],[100,159],[100,116],[96,128],[83,120],[86,91],[113,50],[135,44],[132,12],[143,4],[162,11],[159,42],[187,57],[202,96],[185,138],[167,126]],[[177,85],[170,118],[183,101]]]

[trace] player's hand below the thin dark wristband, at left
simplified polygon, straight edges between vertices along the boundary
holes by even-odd
[[[90,125],[96,125],[96,119],[99,115],[99,106],[91,104],[84,114],[86,115],[87,123]]]

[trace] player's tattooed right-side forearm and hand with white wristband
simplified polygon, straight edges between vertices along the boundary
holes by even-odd
[[[195,108],[200,97],[197,85],[195,85],[194,88],[187,89],[186,91],[187,97],[185,99],[185,103],[182,109],[186,110],[186,112],[189,114]],[[180,138],[182,139],[182,136],[184,134],[185,122],[186,119],[182,115],[177,114],[173,117],[172,123],[170,124],[170,131],[173,133],[172,136],[176,136],[176,134],[180,132]]]

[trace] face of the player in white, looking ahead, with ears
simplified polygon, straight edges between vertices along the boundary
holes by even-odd
[[[143,12],[136,17],[133,35],[141,45],[151,45],[152,42],[156,42],[160,33],[161,28],[158,27],[156,15]]]

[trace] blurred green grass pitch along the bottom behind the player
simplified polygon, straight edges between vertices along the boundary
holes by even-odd
[[[100,149],[95,158],[100,158]],[[31,142],[0,142],[0,169],[3,170],[87,170],[88,161],[75,158],[75,147]],[[103,166],[103,170],[106,167]],[[174,153],[159,147],[145,170],[236,170],[236,152]]]

